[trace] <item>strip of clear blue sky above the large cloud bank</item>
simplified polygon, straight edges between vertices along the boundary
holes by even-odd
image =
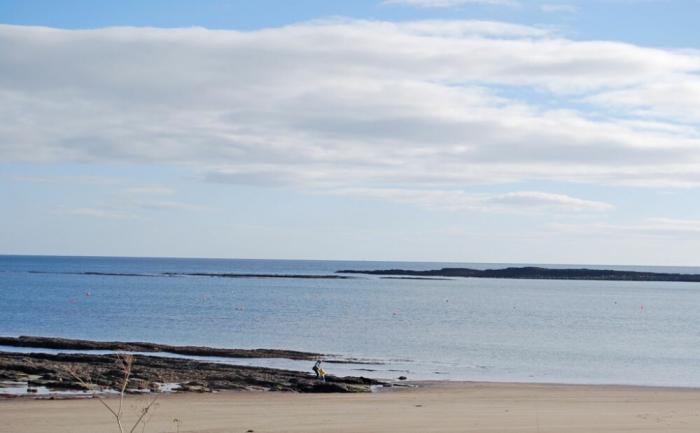
[[[545,12],[546,6],[559,6]],[[562,28],[578,39],[610,39],[646,46],[694,47],[697,0],[520,1],[515,6],[470,4],[410,7],[375,0],[90,0],[0,1],[6,24],[60,28],[107,26],[254,30],[323,17],[374,20],[480,19]]]

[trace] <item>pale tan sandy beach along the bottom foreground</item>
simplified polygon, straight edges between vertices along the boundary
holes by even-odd
[[[694,432],[700,390],[433,383],[373,394],[181,394],[147,432]],[[133,410],[136,397],[127,400]],[[133,413],[133,412],[131,412]],[[1,400],[0,433],[116,432],[95,400]],[[140,432],[140,429],[136,431]]]

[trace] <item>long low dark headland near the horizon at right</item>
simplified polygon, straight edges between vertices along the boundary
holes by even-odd
[[[675,281],[700,283],[700,274],[664,272],[615,271],[611,269],[552,269],[535,266],[503,269],[442,268],[427,271],[409,269],[341,270],[339,274],[410,276],[410,277],[461,277],[461,278],[509,278],[530,280],[601,280],[601,281]]]

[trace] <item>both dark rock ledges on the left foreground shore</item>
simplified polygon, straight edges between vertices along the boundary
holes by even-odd
[[[144,347],[172,349],[176,346],[156,345],[153,343],[89,342],[46,337],[1,337],[0,341],[24,343],[24,347],[44,347],[39,343],[53,342],[52,348],[80,349],[96,348],[115,351],[143,351]],[[82,342],[79,345],[77,342]],[[30,346],[31,344],[31,346]],[[177,346],[181,347],[181,346]],[[196,348],[197,354],[235,353],[239,349]],[[213,352],[207,352],[211,350]],[[170,352],[170,350],[168,350]],[[246,351],[260,357],[259,351]],[[294,359],[315,359],[318,354],[265,350],[268,357],[284,357],[283,354],[295,355]],[[218,356],[218,355],[217,355]],[[231,356],[231,355],[229,355]],[[264,356],[262,356],[264,357]],[[184,392],[215,392],[223,390],[249,391],[290,391],[302,393],[349,393],[369,392],[374,385],[385,383],[364,377],[327,376],[320,381],[309,373],[264,367],[236,366],[230,364],[205,362],[185,358],[134,355],[133,366],[127,392],[162,391],[164,385],[175,386]],[[123,372],[115,354],[94,355],[85,353],[14,353],[0,352],[0,382],[26,383],[30,388],[45,387],[49,391],[108,391],[119,388]],[[89,386],[86,386],[86,383]],[[0,396],[3,391],[0,385]],[[7,395],[6,395],[7,396]]]

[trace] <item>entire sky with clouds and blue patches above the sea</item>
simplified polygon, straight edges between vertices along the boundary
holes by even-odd
[[[700,0],[0,0],[0,254],[700,265]]]

